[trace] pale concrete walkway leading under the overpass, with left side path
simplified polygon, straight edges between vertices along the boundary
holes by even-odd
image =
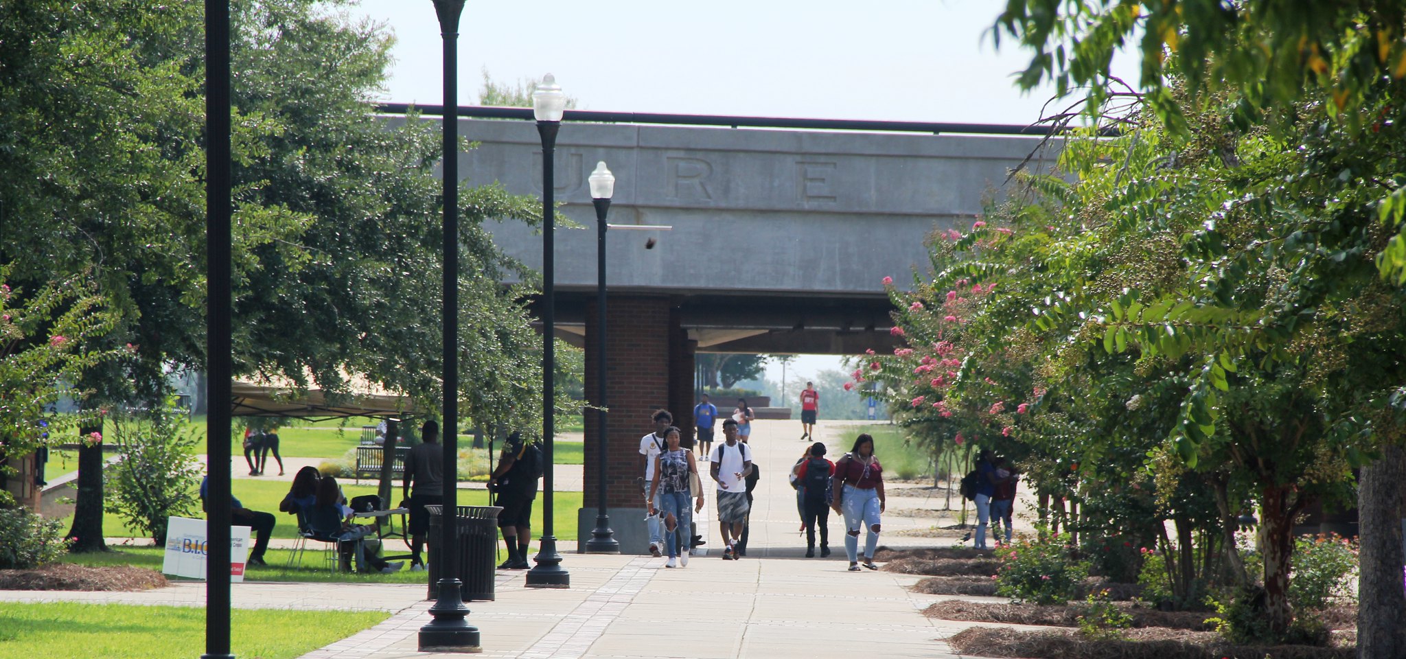
[[[823,423],[820,440],[842,454],[851,426]],[[688,568],[665,569],[664,559],[568,554],[571,589],[523,586],[522,572],[499,572],[496,601],[470,603],[470,622],[482,632],[492,658],[952,658],[941,641],[970,622],[925,618],[921,611],[945,596],[915,594],[918,576],[846,572],[842,523],[831,518],[835,555],[800,558],[794,492],[786,474],[810,440],[796,422],[755,422],[752,447],[762,479],[751,521],[748,556],[721,561],[696,556]],[[880,457],[882,458],[882,457]],[[900,492],[901,490],[901,492]],[[914,490],[914,492],[907,492]],[[914,495],[914,496],[900,496]],[[894,488],[889,509],[941,507],[932,490]],[[709,510],[713,506],[709,493]],[[614,521],[614,520],[613,520]],[[623,520],[621,520],[623,521]],[[641,521],[643,523],[643,521]],[[884,520],[882,544],[934,547],[950,540],[894,535],[925,528],[935,518]],[[716,524],[709,547],[720,547]],[[536,547],[534,547],[536,549]],[[201,606],[202,583],[179,583],[146,593],[18,593],[8,601],[127,601]],[[363,608],[392,611],[389,620],[305,655],[305,659],[394,659],[419,653],[418,629],[430,621],[423,585],[239,583],[233,606],[249,608]],[[993,600],[965,597],[970,600]],[[450,655],[444,655],[450,656]]]

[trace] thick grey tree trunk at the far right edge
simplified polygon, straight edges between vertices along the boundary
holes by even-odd
[[[1362,549],[1358,555],[1357,652],[1361,659],[1406,656],[1406,594],[1402,589],[1402,486],[1406,451],[1386,447],[1362,468],[1357,489]]]

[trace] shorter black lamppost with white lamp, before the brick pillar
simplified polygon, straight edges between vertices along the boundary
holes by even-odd
[[[614,176],[606,162],[591,173],[591,201],[596,205],[596,527],[586,541],[586,554],[620,554],[606,513],[606,212],[614,194]]]

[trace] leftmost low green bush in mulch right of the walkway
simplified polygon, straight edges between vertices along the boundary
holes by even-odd
[[[1001,559],[995,594],[1035,604],[1063,604],[1078,596],[1088,563],[1074,561],[1069,534],[1040,535],[1046,540],[1021,538],[995,551]]]

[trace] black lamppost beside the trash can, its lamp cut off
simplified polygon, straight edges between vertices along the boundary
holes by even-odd
[[[478,652],[478,628],[470,625],[460,582],[458,558],[458,17],[464,0],[433,0],[444,38],[444,445],[443,507],[440,520],[439,599],[434,620],[420,627],[420,652]],[[387,438],[389,441],[389,438]],[[434,558],[433,555],[430,558]]]

